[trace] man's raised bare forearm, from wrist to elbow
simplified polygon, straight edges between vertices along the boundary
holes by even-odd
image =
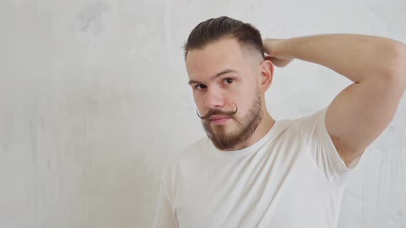
[[[405,49],[389,38],[327,34],[282,40],[279,51],[284,52],[282,56],[314,62],[362,82],[405,73]]]

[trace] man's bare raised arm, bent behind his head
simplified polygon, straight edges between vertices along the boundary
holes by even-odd
[[[329,34],[264,40],[271,61],[298,58],[328,67],[354,82],[330,104],[325,125],[345,164],[381,135],[406,89],[406,47],[376,36]]]

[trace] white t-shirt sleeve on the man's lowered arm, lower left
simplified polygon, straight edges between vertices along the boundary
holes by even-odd
[[[178,223],[171,206],[171,199],[167,192],[168,170],[164,168],[158,192],[156,214],[153,222],[153,228],[176,228]]]

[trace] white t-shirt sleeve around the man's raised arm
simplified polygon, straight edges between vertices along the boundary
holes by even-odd
[[[362,154],[350,166],[345,166],[325,126],[327,109],[328,106],[308,117],[295,119],[295,124],[319,170],[325,174],[328,181],[341,182],[345,180],[348,172],[356,167]]]

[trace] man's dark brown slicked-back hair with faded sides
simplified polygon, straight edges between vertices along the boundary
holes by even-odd
[[[221,38],[235,38],[240,47],[255,49],[263,58],[264,45],[259,30],[249,23],[243,23],[228,16],[208,19],[199,23],[189,34],[184,45],[184,59],[191,49],[202,49]]]

